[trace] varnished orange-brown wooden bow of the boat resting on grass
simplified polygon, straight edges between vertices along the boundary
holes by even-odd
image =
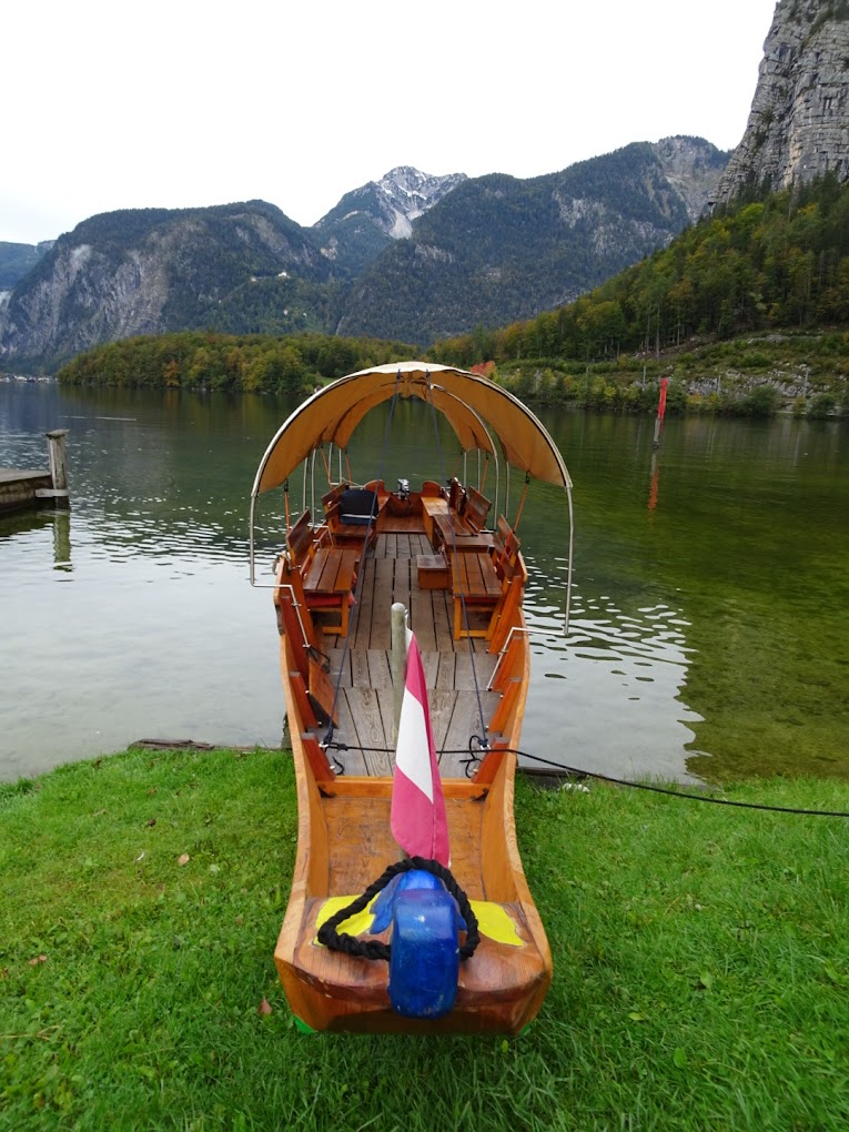
[[[298,854],[275,963],[293,1013],[314,1030],[351,1034],[517,1034],[544,998],[551,980],[548,941],[522,869],[513,818],[515,756],[490,753],[477,779],[446,779],[443,787],[452,844],[452,872],[470,900],[496,904],[515,940],[482,935],[461,963],[454,1009],[444,1018],[396,1014],[389,1004],[388,966],[331,951],[316,940],[317,918],[332,897],[352,900],[400,857],[389,832],[392,779],[366,775],[320,781],[308,736],[298,734],[297,701],[281,638],[283,686],[292,729],[298,783]],[[516,704],[521,723],[524,697]],[[328,767],[329,770],[329,767]]]

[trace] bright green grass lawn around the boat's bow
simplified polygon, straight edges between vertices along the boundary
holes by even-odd
[[[34,786],[0,790],[0,1129],[849,1123],[844,820],[521,780],[555,959],[538,1020],[345,1038],[295,1029],[272,961],[286,756],[135,751]],[[849,809],[837,781],[728,796]]]

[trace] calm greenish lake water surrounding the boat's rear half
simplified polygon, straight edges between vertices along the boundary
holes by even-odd
[[[70,512],[0,518],[0,778],[142,738],[280,744],[248,503],[292,408],[0,383],[0,466],[45,466],[68,428],[71,488]],[[523,747],[626,778],[849,775],[849,428],[670,419],[654,452],[651,419],[540,415],[575,482],[575,582],[564,635],[567,507],[532,484]],[[398,408],[381,469],[384,424],[354,435],[354,479],[438,478],[424,406]],[[263,569],[281,508],[264,498]]]

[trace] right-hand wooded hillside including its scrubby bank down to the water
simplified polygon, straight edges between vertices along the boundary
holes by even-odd
[[[537,403],[849,417],[849,185],[741,199],[576,302],[436,343]]]

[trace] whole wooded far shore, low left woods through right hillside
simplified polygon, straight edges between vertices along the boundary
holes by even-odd
[[[849,186],[827,177],[741,200],[573,303],[431,344],[531,403],[765,414],[849,414]],[[375,340],[173,334],[101,346],[68,383],[309,389],[419,353]]]

